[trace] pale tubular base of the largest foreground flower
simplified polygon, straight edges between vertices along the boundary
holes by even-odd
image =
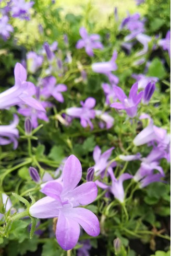
[[[35,218],[55,218],[62,205],[50,196],[43,197],[29,208],[29,214]]]

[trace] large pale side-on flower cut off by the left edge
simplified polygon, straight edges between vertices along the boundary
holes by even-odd
[[[14,68],[15,85],[0,94],[0,109],[6,109],[18,104],[26,104],[34,109],[45,111],[43,106],[34,98],[35,86],[26,82],[26,69],[17,63]]]

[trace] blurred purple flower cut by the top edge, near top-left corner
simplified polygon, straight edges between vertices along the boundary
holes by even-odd
[[[34,4],[33,1],[25,2],[25,0],[13,0],[11,6],[12,16],[20,19],[30,19],[30,8]]]

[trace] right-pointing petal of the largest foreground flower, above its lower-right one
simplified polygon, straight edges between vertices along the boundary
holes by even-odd
[[[67,194],[74,207],[92,203],[97,197],[95,182],[86,182]]]

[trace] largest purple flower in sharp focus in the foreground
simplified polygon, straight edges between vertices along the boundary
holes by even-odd
[[[47,196],[29,209],[30,215],[35,218],[58,217],[56,239],[64,250],[76,246],[80,226],[90,236],[98,236],[100,233],[97,217],[86,208],[78,207],[92,203],[97,196],[94,182],[87,182],[76,188],[81,176],[80,161],[71,155],[64,166],[63,185],[55,181],[48,182],[42,189]]]

